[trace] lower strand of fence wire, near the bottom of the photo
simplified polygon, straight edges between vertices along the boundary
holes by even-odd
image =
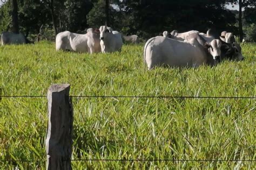
[[[46,162],[46,160],[0,160],[2,162]],[[69,160],[62,160],[62,161],[69,161]],[[173,161],[173,162],[212,162],[212,161],[219,161],[219,162],[255,162],[256,159],[71,159],[70,161]]]

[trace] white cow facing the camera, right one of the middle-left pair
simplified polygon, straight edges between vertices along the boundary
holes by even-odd
[[[100,46],[102,52],[120,51],[123,46],[122,35],[118,31],[112,31],[110,27],[100,26]]]

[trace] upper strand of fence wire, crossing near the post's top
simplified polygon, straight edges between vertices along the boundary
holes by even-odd
[[[36,96],[36,95],[5,95],[0,96],[0,98],[41,98],[47,96]],[[255,96],[69,96],[75,98],[212,98],[212,99],[255,99]]]

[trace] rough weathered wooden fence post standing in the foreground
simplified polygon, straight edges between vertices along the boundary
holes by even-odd
[[[69,84],[53,84],[48,89],[48,132],[45,141],[46,169],[72,169],[73,108]]]

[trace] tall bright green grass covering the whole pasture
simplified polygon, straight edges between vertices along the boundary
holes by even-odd
[[[245,60],[215,67],[144,71],[143,45],[113,54],[56,52],[55,44],[0,47],[1,95],[46,95],[70,83],[71,95],[255,96],[256,45]],[[255,100],[72,98],[72,159],[255,160]],[[47,100],[2,98],[0,159],[45,160]],[[4,162],[1,169],[44,169]],[[73,169],[253,169],[255,161],[72,161]]]

